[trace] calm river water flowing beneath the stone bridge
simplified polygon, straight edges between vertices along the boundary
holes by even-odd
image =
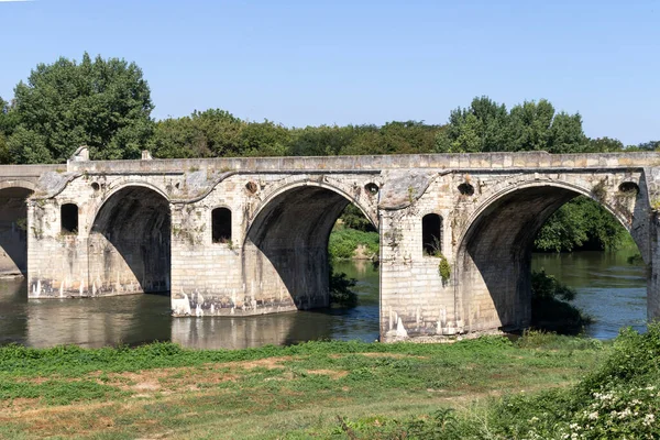
[[[532,266],[574,287],[575,305],[595,319],[586,333],[610,339],[624,326],[644,329],[645,267],[627,263],[632,253],[539,254]],[[319,339],[375,341],[377,268],[369,262],[336,263],[334,267],[359,280],[358,307],[249,318],[175,319],[169,316],[169,297],[158,295],[28,301],[23,280],[4,279],[0,280],[0,344],[105,346],[174,341],[199,349],[240,349]]]

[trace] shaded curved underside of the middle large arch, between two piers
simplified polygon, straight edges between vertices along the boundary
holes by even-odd
[[[246,300],[282,311],[328,307],[328,240],[351,202],[365,212],[340,189],[316,183],[297,183],[265,200],[243,243]]]

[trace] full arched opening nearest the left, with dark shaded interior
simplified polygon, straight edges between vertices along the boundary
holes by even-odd
[[[129,186],[99,209],[89,235],[94,295],[168,293],[169,202],[160,193]]]

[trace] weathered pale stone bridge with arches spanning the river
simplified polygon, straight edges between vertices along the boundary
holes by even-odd
[[[0,272],[30,298],[170,292],[175,316],[324,307],[348,204],[381,235],[381,338],[525,328],[530,250],[571,198],[630,232],[660,316],[660,154],[491,153],[0,166]],[[441,271],[440,267],[443,266]]]

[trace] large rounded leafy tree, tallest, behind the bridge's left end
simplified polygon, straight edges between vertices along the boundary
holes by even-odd
[[[64,162],[82,144],[92,158],[135,158],[153,131],[142,70],[123,59],[40,64],[14,89],[8,144],[20,163]]]

